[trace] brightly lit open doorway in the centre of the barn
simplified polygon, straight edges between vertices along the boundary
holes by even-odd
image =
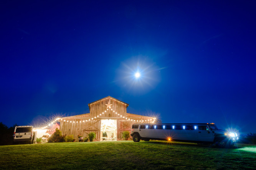
[[[101,141],[116,141],[116,120],[102,119],[101,120]]]

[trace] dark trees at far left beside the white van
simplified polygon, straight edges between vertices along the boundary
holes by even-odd
[[[0,145],[12,145],[13,144],[13,132],[15,126],[8,128],[2,122],[0,122]]]

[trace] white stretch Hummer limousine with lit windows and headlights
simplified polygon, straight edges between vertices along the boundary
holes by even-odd
[[[134,142],[140,139],[149,141],[168,140],[193,142],[200,144],[216,144],[219,147],[233,146],[239,139],[233,132],[224,132],[214,123],[172,123],[172,124],[133,124],[132,133]]]

